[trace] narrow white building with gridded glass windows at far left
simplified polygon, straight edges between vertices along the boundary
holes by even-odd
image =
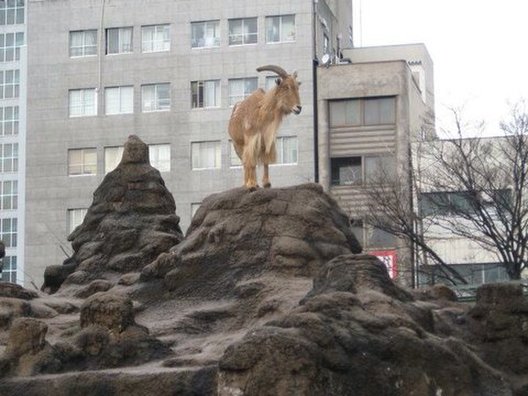
[[[26,5],[0,1],[0,239],[6,246],[1,280],[24,283],[26,138]]]

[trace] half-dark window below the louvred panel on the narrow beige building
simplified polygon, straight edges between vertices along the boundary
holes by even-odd
[[[332,158],[330,162],[333,186],[383,183],[396,176],[391,155]]]

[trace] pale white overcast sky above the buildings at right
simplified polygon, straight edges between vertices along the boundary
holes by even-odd
[[[508,102],[528,100],[528,1],[353,1],[356,46],[427,46],[439,126],[448,125],[447,106],[463,106],[497,135]]]

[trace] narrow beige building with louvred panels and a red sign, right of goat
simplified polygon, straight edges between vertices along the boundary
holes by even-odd
[[[320,183],[349,213],[364,248],[413,285],[412,247],[364,217],[381,170],[403,181],[412,204],[410,147],[434,110],[433,63],[423,44],[356,48],[343,57],[318,68]]]

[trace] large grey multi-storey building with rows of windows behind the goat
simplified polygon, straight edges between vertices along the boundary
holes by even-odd
[[[350,46],[351,0],[30,0],[25,284],[69,253],[67,235],[130,134],[150,146],[185,229],[201,200],[242,185],[232,105],[296,70],[274,186],[314,181],[314,58]]]

